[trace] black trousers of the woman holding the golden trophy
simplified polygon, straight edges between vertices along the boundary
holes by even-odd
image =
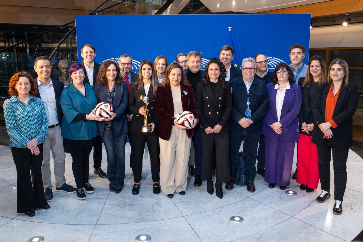
[[[129,133],[132,157],[132,173],[136,183],[141,180],[142,157],[144,155],[145,141],[150,154],[150,168],[153,182],[160,180],[160,146],[158,135],[136,135]],[[130,161],[131,163],[131,161]]]

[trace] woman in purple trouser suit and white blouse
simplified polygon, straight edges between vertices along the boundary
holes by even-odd
[[[294,84],[294,74],[286,63],[276,66],[272,83],[267,84],[269,110],[262,123],[265,135],[265,181],[269,188],[290,185],[295,141],[299,139],[301,107],[300,86]]]

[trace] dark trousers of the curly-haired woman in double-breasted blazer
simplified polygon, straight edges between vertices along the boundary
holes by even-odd
[[[201,154],[201,180],[212,177],[212,160],[216,160],[216,181],[228,182],[231,180],[231,168],[229,166],[229,134],[199,132],[199,144]],[[215,153],[213,151],[215,146]]]

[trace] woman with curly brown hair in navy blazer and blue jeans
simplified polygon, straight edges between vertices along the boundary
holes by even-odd
[[[129,93],[120,67],[114,61],[105,61],[99,68],[95,93],[97,102],[106,102],[113,108],[111,118],[97,122],[98,134],[105,144],[107,154],[107,179],[110,191],[119,193],[125,179],[125,145],[129,126],[127,104]]]

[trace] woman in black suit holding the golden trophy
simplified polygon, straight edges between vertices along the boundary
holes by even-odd
[[[134,174],[134,186],[132,194],[139,194],[142,172],[142,159],[145,142],[150,154],[150,167],[153,181],[153,192],[160,193],[159,173],[159,136],[156,134],[158,118],[155,116],[155,92],[158,83],[155,81],[154,65],[149,60],[140,63],[139,76],[130,84],[129,112],[134,114],[130,123],[130,145],[132,160],[132,173]]]

